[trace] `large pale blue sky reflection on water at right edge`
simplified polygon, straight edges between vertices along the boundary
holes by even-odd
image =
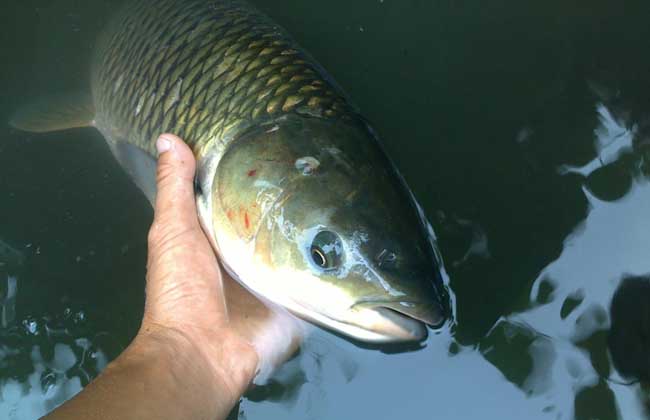
[[[538,276],[531,292],[535,301],[540,285],[552,284],[550,302],[507,318],[546,337],[554,360],[528,381],[551,383],[544,398],[567,410],[573,407],[575,394],[599,379],[588,354],[576,343],[609,328],[609,304],[623,276],[650,272],[650,183],[637,180],[623,199],[613,203],[600,201],[586,190],[585,194],[591,205],[587,219],[565,240],[562,254]],[[562,318],[565,301],[576,295],[584,299]],[[609,386],[623,418],[643,417],[636,386]]]

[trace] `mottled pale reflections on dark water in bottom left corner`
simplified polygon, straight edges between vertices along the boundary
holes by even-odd
[[[20,279],[10,277],[15,290]],[[14,301],[3,302],[3,311]],[[15,308],[10,309],[15,314]],[[5,312],[3,312],[4,314]],[[101,335],[101,334],[99,334]],[[83,311],[11,320],[0,330],[0,416],[33,419],[65,402],[107,365]]]

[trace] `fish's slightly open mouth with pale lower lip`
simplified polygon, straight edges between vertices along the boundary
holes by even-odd
[[[422,341],[426,325],[440,327],[445,321],[441,309],[433,304],[406,301],[366,301],[350,308],[346,322],[366,331],[362,339],[375,343]]]

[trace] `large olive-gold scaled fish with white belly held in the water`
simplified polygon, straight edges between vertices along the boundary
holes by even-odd
[[[277,306],[367,343],[422,341],[449,318],[435,234],[377,133],[253,5],[127,1],[99,37],[89,87],[10,123],[95,127],[150,202],[156,138],[183,138],[201,226],[236,280],[229,311]]]

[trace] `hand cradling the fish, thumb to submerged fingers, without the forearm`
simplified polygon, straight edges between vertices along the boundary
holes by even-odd
[[[222,273],[197,217],[194,156],[176,136],[161,141],[170,148],[158,163],[142,331],[182,332],[217,368],[229,361],[231,371],[221,373],[239,392],[251,360],[263,380],[298,348],[302,326]]]

